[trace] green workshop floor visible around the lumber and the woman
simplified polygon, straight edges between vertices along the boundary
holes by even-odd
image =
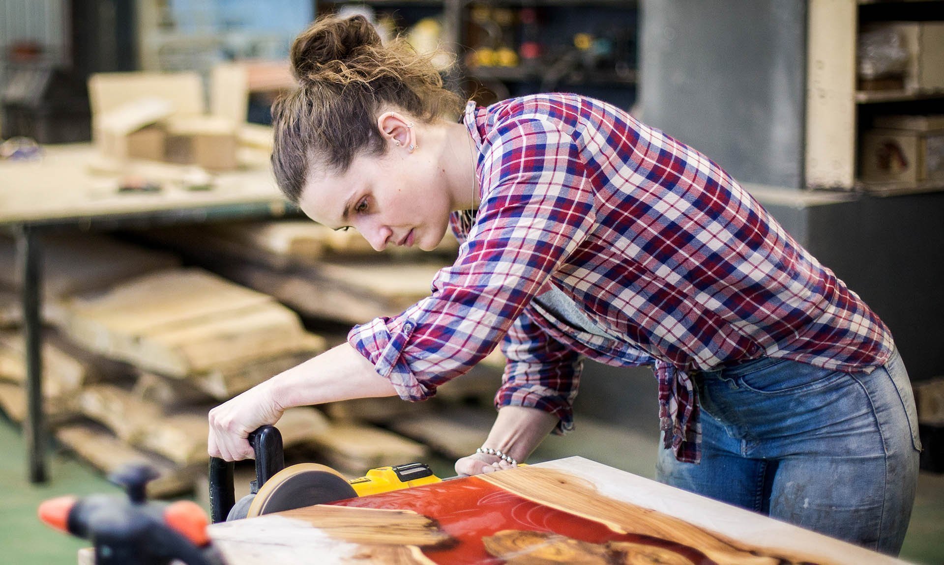
[[[25,447],[19,430],[0,416],[0,562],[18,565],[73,564],[76,550],[88,545],[53,531],[36,517],[36,508],[47,498],[62,494],[113,492],[100,474],[74,458],[53,454],[49,460],[50,481],[43,486],[29,484],[25,478]],[[626,457],[626,454],[634,454]],[[532,457],[543,460],[581,455],[601,463],[648,476],[654,469],[655,452],[651,441],[628,434],[620,428],[583,420],[581,433],[564,438],[552,437]],[[626,460],[630,459],[627,465]],[[447,464],[437,461],[434,470],[448,474]],[[902,559],[922,565],[944,563],[944,476],[921,474],[918,498],[912,514]]]

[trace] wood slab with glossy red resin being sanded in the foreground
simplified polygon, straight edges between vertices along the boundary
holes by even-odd
[[[568,457],[210,526],[229,565],[902,563]]]

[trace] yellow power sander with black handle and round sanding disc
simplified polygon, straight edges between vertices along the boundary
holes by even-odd
[[[352,480],[317,463],[285,467],[282,436],[278,428],[272,425],[263,425],[249,434],[248,440],[256,454],[256,479],[249,484],[249,494],[238,502],[234,494],[233,463],[211,457],[212,523],[429,485],[443,480],[423,463],[371,469],[364,476]]]

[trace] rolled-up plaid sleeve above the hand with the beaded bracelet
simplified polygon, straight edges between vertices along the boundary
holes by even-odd
[[[581,355],[535,324],[531,307],[514,321],[501,348],[508,362],[495,406],[539,408],[557,416],[555,433],[573,429],[573,403],[583,369]]]

